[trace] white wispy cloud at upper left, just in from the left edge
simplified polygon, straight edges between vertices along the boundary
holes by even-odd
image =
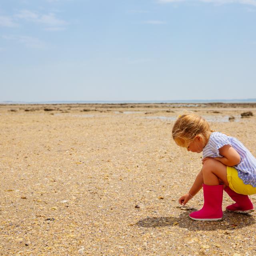
[[[54,30],[54,28],[55,30],[64,30],[68,25],[68,22],[57,18],[53,12],[40,14],[31,10],[21,10],[15,17],[20,20],[43,24],[46,26],[46,30]]]

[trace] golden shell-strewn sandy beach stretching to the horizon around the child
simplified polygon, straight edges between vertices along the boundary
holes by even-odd
[[[184,109],[256,156],[256,104],[0,105],[0,255],[256,255],[226,193],[218,222],[188,217],[202,191],[178,204],[202,166],[171,139]]]

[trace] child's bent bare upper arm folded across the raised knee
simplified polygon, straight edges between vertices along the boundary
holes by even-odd
[[[232,146],[225,145],[219,149],[219,152],[223,157],[214,157],[214,160],[217,160],[222,164],[225,164],[226,166],[236,166],[237,164],[240,163],[240,160],[241,160],[240,155],[234,148],[232,148]],[[203,164],[204,164],[204,161],[207,159],[204,158],[202,160]]]

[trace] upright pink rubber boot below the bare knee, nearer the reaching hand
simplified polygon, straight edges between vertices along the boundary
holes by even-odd
[[[192,220],[221,220],[222,213],[222,197],[223,184],[216,186],[209,186],[203,184],[204,189],[204,206],[197,212],[191,212],[190,218]]]

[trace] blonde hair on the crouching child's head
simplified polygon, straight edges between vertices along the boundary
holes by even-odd
[[[172,138],[178,146],[187,147],[196,136],[200,136],[202,142],[207,144],[210,133],[208,122],[196,114],[183,114],[178,117],[173,128]]]

